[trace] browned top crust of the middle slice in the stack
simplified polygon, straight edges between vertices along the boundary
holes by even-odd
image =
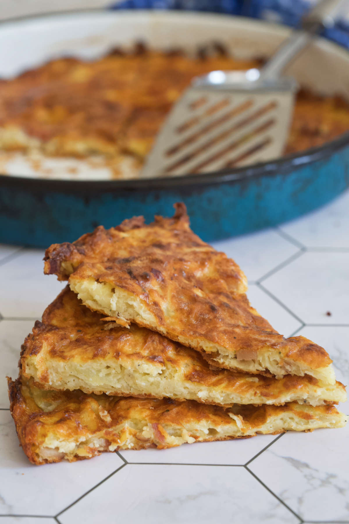
[[[36,322],[32,333],[22,346],[21,362],[24,375],[28,373],[27,362],[32,357],[35,357],[39,370],[40,384],[48,389],[52,387],[52,382],[47,366],[54,368],[55,364],[64,362],[69,370],[71,363],[77,363],[88,370],[89,366],[95,363],[100,363],[100,368],[103,369],[118,362],[123,369],[128,370],[132,369],[133,365],[145,363],[160,370],[178,370],[181,373],[178,380],[181,381],[183,390],[186,384],[190,390],[190,383],[197,383],[203,390],[213,387],[218,392],[251,399],[252,403],[260,403],[256,399],[263,396],[265,401],[272,400],[277,404],[283,403],[283,396],[289,392],[296,392],[296,397],[300,400],[306,398],[309,391],[313,391],[312,388],[318,385],[318,380],[308,375],[286,375],[280,380],[258,375],[257,381],[251,381],[251,376],[247,373],[212,369],[198,352],[172,342],[158,333],[140,328],[136,324],[131,324],[130,329],[123,328],[115,322],[106,325],[102,318],[103,315],[81,305],[76,294],[66,287],[46,309],[42,322]],[[114,328],[111,327],[113,325]],[[75,373],[78,380],[78,371]],[[91,389],[86,392],[98,394],[105,391],[96,389],[93,384],[92,374]],[[343,386],[337,383],[335,387],[338,388],[339,394],[342,394]],[[130,390],[117,391],[116,394],[130,395]],[[145,390],[140,396],[151,395]],[[324,398],[326,399],[325,396]],[[182,398],[184,399],[185,397]],[[199,401],[211,403],[209,398]]]

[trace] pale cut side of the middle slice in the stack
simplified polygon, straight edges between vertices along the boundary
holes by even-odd
[[[29,357],[23,372],[47,389],[81,389],[95,394],[168,397],[218,406],[231,406],[233,403],[281,405],[292,401],[320,406],[346,400],[345,390],[339,383],[322,386],[299,379],[297,385],[293,386],[284,378],[272,388],[270,381],[274,379],[238,374],[235,383],[231,381],[221,385],[217,380],[217,385],[210,386],[204,381],[200,382],[199,376],[196,379],[193,377],[193,381],[186,379],[183,370],[175,366],[159,369],[142,362],[138,366],[137,361],[130,365],[124,360],[121,364],[111,358],[96,359],[84,364],[74,362],[73,358],[67,362],[49,358],[41,372],[37,366],[40,366],[40,358]]]

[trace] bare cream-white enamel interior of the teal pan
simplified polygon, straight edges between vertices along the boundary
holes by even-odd
[[[188,53],[199,45],[223,43],[237,58],[267,58],[289,29],[265,22],[211,13],[166,11],[105,11],[49,15],[0,25],[0,77],[12,78],[50,59],[74,56],[95,59],[115,46],[143,40],[152,48],[181,47]],[[324,40],[316,42],[288,68],[300,85],[320,94],[349,100],[349,53]],[[24,155],[0,153],[0,171],[13,176],[109,179],[107,168],[77,159],[41,159],[32,169]]]

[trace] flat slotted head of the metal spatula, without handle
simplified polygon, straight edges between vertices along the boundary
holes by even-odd
[[[282,155],[294,90],[189,88],[168,116],[142,178],[242,167]]]

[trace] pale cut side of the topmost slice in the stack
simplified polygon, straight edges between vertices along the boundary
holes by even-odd
[[[177,340],[185,346],[199,350],[208,358],[208,361],[216,366],[237,369],[247,373],[258,374],[270,372],[276,378],[282,378],[287,374],[305,376],[310,375],[323,381],[324,384],[335,384],[333,366],[313,368],[294,359],[282,355],[279,348],[263,347],[258,350],[254,358],[238,358],[237,352],[232,349],[213,344],[204,337],[193,339],[185,335],[168,333],[168,331],[157,321],[156,317],[140,298],[120,287],[108,282],[96,282],[94,279],[77,280],[74,275],[70,277],[70,287],[77,293],[79,299],[92,310],[105,313],[114,317],[117,322],[127,325],[130,321],[139,325],[147,326],[162,334],[167,334],[171,339]]]

